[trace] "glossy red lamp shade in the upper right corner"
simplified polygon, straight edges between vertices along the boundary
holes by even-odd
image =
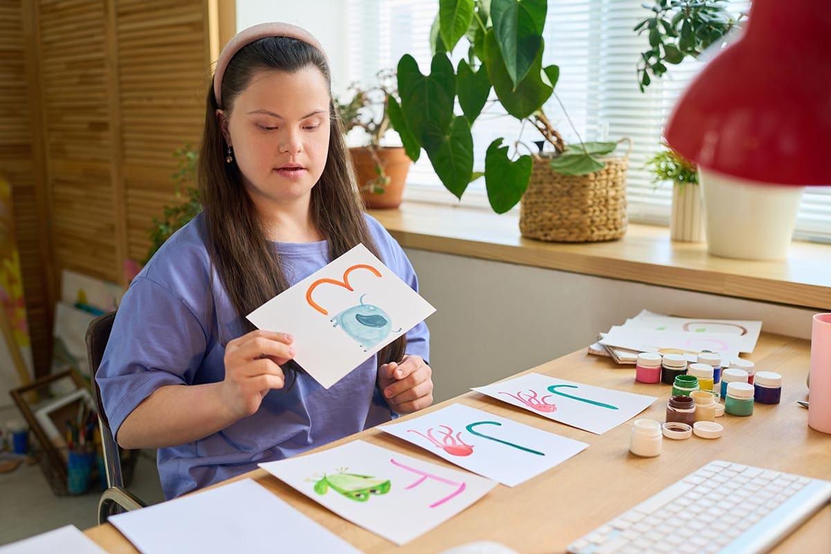
[[[828,0],[754,0],[743,36],[677,102],[666,141],[720,174],[831,184],[829,41]]]

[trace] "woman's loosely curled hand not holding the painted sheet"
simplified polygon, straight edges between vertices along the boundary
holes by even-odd
[[[420,355],[404,355],[400,364],[378,369],[378,389],[398,414],[409,414],[433,403],[433,370]]]

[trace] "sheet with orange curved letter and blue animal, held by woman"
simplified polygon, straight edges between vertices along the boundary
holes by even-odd
[[[358,244],[248,314],[294,336],[294,360],[329,388],[435,311]]]

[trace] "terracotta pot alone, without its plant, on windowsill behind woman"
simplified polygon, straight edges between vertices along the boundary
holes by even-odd
[[[390,182],[384,187],[384,192],[378,194],[368,190],[367,183],[378,177],[376,161],[368,148],[350,148],[352,162],[355,164],[355,176],[358,187],[361,189],[361,198],[367,208],[398,208],[401,205],[401,194],[404,193],[404,184],[407,172],[410,171],[412,160],[407,157],[402,146],[385,146],[375,150],[381,161],[384,174]]]

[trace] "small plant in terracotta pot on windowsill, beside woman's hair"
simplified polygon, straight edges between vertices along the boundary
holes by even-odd
[[[395,71],[382,70],[375,86],[353,84],[346,101],[336,101],[347,135],[362,130],[364,146],[350,148],[361,198],[367,208],[397,208],[401,204],[411,160],[401,146],[381,145],[390,130],[388,106],[397,96]]]

